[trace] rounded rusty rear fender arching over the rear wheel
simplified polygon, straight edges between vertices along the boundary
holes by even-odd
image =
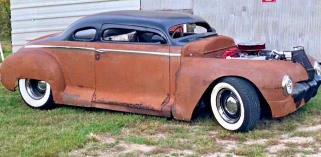
[[[4,86],[10,90],[15,89],[19,78],[44,80],[50,84],[55,102],[61,102],[65,88],[63,73],[59,62],[44,51],[22,48],[9,55],[2,63],[0,76]]]

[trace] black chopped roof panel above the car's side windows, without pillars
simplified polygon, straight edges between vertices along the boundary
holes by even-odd
[[[167,31],[170,27],[182,23],[206,22],[203,18],[188,13],[153,10],[119,10],[89,15],[81,18],[71,26],[87,25],[88,23],[109,23],[145,26]]]

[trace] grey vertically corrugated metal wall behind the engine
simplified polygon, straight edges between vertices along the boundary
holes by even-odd
[[[302,45],[321,61],[321,0],[141,0],[142,9],[194,9],[220,34],[236,42],[257,40],[267,48]]]

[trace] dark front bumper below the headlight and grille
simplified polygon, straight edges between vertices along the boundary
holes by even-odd
[[[296,108],[300,106],[303,98],[304,102],[307,102],[314,97],[320,84],[321,77],[316,74],[314,74],[314,78],[312,79],[295,83],[295,89],[292,92],[292,97],[294,99],[294,103],[296,104]]]

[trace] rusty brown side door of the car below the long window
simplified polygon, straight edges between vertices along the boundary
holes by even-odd
[[[96,43],[97,49],[170,52],[169,45]],[[95,52],[94,102],[162,110],[170,97],[170,56]]]

